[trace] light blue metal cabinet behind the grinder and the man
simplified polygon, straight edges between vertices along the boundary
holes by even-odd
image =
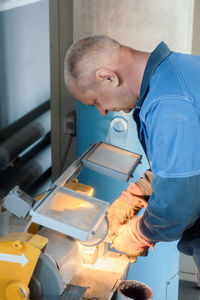
[[[134,177],[128,183],[83,168],[79,181],[94,187],[95,197],[113,202],[128,187],[130,182],[136,182],[143,172],[149,168],[143,149],[138,141],[132,112],[129,114],[109,112],[107,116],[103,116],[95,107],[86,107],[78,103],[78,156],[83,154],[90,144],[99,141],[139,153],[143,157],[142,164],[136,168]],[[149,285],[153,290],[154,300],[168,300],[169,294],[170,300],[177,300],[178,266],[179,255],[176,242],[159,243],[155,246],[154,251],[149,250],[147,257],[139,257],[137,262],[131,265],[128,279],[138,280]]]

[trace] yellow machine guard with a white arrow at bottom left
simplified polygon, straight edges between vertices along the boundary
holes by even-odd
[[[29,282],[48,239],[29,233],[0,238],[0,299],[29,299]]]

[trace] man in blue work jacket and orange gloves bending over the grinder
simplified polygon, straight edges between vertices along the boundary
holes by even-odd
[[[148,53],[91,36],[68,50],[65,83],[104,115],[134,109],[151,166],[111,205],[112,245],[136,257],[159,241],[180,239],[179,250],[193,255],[199,274],[200,57],[172,52],[163,42]]]

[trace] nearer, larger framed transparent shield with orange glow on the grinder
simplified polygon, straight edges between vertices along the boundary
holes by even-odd
[[[109,203],[60,187],[30,211],[32,222],[87,241],[104,218]]]

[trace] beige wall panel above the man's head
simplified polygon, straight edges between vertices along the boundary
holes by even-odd
[[[174,51],[190,53],[194,2],[74,0],[74,39],[106,34],[144,51],[163,40]]]

